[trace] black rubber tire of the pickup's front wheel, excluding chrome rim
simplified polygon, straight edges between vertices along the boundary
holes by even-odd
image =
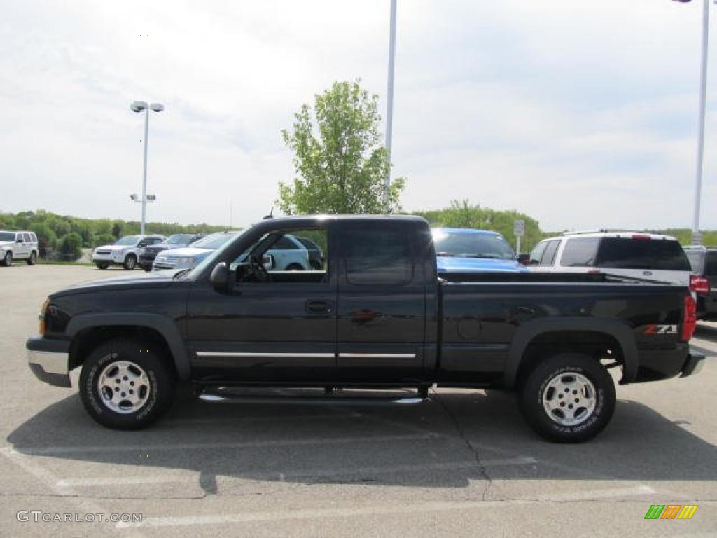
[[[101,344],[85,359],[80,372],[80,398],[85,410],[98,423],[114,430],[138,430],[151,425],[171,407],[174,400],[176,391],[174,369],[168,364],[167,359],[153,344],[142,341],[115,339]],[[138,381],[137,385],[134,385],[146,387],[145,400],[141,404],[138,403],[134,410],[128,406],[125,407],[125,412],[120,412],[106,402],[109,398],[108,394],[112,395],[113,391],[108,390],[108,386],[105,385],[105,391],[108,392],[100,393],[98,383],[103,373],[110,372],[110,376],[114,375],[111,373],[113,364],[121,366],[128,363],[135,367],[133,370],[135,374],[136,372],[144,374],[142,378],[133,379],[145,379],[144,382]],[[126,381],[126,383],[130,382],[132,381]],[[131,387],[127,384],[118,384],[115,390],[118,389],[131,390]],[[120,392],[120,394],[124,396],[125,393]],[[112,395],[111,398],[114,399],[115,396]]]

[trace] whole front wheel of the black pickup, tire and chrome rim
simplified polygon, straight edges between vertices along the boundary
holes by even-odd
[[[156,421],[174,400],[174,370],[151,344],[115,339],[98,346],[80,372],[80,398],[107,428],[138,430]]]

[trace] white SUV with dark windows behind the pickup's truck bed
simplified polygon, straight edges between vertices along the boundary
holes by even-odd
[[[640,232],[571,232],[542,240],[528,260],[534,271],[609,273],[690,285],[690,262],[675,237]]]

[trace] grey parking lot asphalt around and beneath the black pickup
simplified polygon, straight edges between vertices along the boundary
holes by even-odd
[[[582,445],[538,438],[510,394],[467,390],[409,406],[187,393],[153,428],[120,432],[85,414],[77,371],[72,390],[49,387],[24,351],[48,293],[120,273],[0,268],[2,537],[717,534],[717,324],[693,340],[711,355],[701,374],[618,387],[612,423]],[[698,509],[645,520],[652,504]],[[18,511],[143,519],[21,522]]]

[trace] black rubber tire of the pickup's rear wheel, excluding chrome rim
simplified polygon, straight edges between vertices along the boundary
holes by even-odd
[[[556,397],[563,398],[562,390],[556,392],[554,384],[564,387],[564,382],[570,379],[579,381],[574,375],[581,376],[592,384],[594,408],[589,411],[589,397],[580,392],[568,392],[564,400],[556,400]],[[590,392],[590,387],[587,387]],[[568,400],[568,398],[570,400]],[[594,438],[600,433],[612,418],[615,410],[615,385],[612,377],[602,364],[583,354],[564,353],[546,359],[536,364],[530,372],[527,372],[520,384],[518,403],[523,418],[528,425],[547,440],[556,443],[581,443]],[[545,402],[545,405],[543,405]],[[546,410],[546,405],[551,402],[559,402],[559,405],[568,403],[570,409],[576,413],[574,424],[566,424],[566,417],[560,416],[561,408],[552,411],[553,417]],[[576,402],[576,403],[573,403]],[[572,406],[575,407],[572,407]],[[581,406],[588,407],[581,407]],[[578,413],[584,413],[581,417]],[[561,423],[561,421],[563,423]],[[568,420],[569,421],[569,420]]]

